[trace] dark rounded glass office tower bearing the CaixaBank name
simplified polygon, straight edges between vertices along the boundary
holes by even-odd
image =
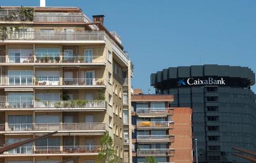
[[[156,93],[174,95],[174,107],[193,109],[200,163],[250,162],[231,153],[256,149],[254,84],[253,71],[241,66],[180,66],[151,74]]]

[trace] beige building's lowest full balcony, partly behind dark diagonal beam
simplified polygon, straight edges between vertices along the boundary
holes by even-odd
[[[6,156],[66,156],[66,155],[96,155],[101,146],[20,146],[19,148],[6,151],[0,157]]]

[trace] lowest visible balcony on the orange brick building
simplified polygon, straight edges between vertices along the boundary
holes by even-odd
[[[137,149],[137,156],[174,156],[175,149]]]

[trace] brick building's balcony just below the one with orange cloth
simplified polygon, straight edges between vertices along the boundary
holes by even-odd
[[[174,135],[137,135],[140,143],[174,142]]]

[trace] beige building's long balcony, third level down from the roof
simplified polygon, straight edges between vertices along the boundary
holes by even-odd
[[[99,63],[106,63],[103,56],[67,56],[66,53],[55,54],[36,54],[36,55],[23,55],[23,56],[0,56],[0,63],[9,63],[8,65],[73,65],[80,63],[85,65],[99,65]]]

